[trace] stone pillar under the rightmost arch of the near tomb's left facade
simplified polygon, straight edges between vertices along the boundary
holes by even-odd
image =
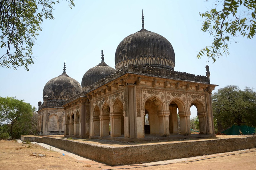
[[[121,129],[122,129],[121,115],[122,115],[122,113],[110,114],[111,137],[120,137],[121,136]]]

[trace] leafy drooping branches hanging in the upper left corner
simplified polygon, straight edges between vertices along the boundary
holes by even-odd
[[[70,8],[73,0],[66,0]],[[34,64],[32,47],[43,19],[54,19],[53,5],[59,0],[1,0],[0,1],[0,66],[24,67]]]

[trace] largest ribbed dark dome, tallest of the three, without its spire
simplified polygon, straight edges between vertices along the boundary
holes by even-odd
[[[175,54],[172,44],[163,36],[146,29],[124,38],[116,48],[115,64],[117,70],[133,63],[174,69]]]

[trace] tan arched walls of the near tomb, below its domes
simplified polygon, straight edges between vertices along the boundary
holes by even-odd
[[[168,80],[166,84],[166,79],[156,78],[155,85],[152,80],[148,76],[124,75],[120,77],[122,85],[115,81],[116,85],[101,86],[71,99],[64,105],[65,136],[113,140],[169,137],[179,135],[178,116],[180,135],[187,136],[191,135],[193,105],[197,109],[200,134],[214,134],[211,91],[215,85],[191,82],[186,89],[188,82],[182,80]]]

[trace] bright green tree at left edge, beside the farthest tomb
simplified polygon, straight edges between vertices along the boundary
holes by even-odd
[[[0,97],[0,122],[5,124],[12,138],[19,138],[24,127],[24,123],[29,123],[33,116],[33,109],[24,100],[13,97]],[[24,122],[23,124],[21,122]]]

